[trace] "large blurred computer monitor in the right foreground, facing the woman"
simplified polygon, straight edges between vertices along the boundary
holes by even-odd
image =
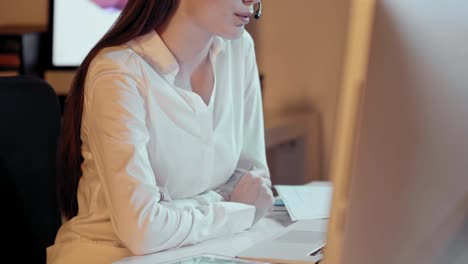
[[[355,0],[326,264],[468,263],[468,1]]]

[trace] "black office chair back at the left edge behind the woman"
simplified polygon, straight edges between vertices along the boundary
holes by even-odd
[[[60,110],[52,87],[35,77],[0,77],[2,234],[17,263],[46,263],[61,224],[56,199]]]

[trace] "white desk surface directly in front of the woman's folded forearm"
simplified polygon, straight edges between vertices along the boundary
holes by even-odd
[[[324,226],[326,220],[317,220],[317,224]],[[237,253],[273,236],[290,225],[291,219],[286,212],[272,212],[270,216],[260,220],[250,230],[242,233],[208,240],[193,246],[172,249],[146,256],[129,257],[120,260],[118,264],[159,264],[179,258],[190,257],[201,253],[211,253],[224,256],[236,256]]]

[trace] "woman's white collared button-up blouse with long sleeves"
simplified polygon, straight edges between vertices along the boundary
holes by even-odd
[[[216,37],[209,103],[178,87],[179,66],[152,31],[106,48],[89,68],[78,215],[48,263],[108,263],[241,232],[255,208],[229,202],[241,175],[268,171],[252,38]]]

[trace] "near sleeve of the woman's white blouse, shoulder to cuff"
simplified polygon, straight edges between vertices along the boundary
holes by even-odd
[[[194,199],[189,203],[192,206],[160,201],[148,158],[150,136],[144,97],[138,89],[143,84],[136,79],[131,74],[105,72],[87,83],[87,140],[119,239],[141,255],[249,228],[254,207],[217,201],[212,193]],[[257,95],[252,96],[255,116],[247,120],[249,130],[258,129],[255,123],[261,122],[258,103],[253,102]],[[246,154],[258,152],[255,149]]]

